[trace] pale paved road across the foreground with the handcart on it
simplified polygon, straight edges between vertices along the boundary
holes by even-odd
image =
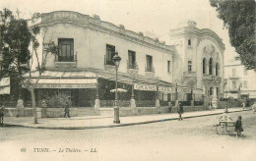
[[[4,160],[256,160],[256,114],[230,114],[238,115],[243,138],[216,134],[220,115],[92,130],[1,128],[0,153]]]

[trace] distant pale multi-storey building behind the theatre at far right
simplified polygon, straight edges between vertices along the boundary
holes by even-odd
[[[246,70],[238,61],[224,66],[227,96],[234,99],[256,98],[256,71]]]

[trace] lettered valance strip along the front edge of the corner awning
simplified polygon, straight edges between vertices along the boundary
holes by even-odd
[[[38,83],[32,84],[34,88],[96,88],[96,83],[74,83],[74,84],[62,84],[62,83]]]

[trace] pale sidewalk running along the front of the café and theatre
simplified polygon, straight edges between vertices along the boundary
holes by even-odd
[[[228,112],[243,111],[242,108],[228,108]],[[224,112],[224,109],[215,109],[211,111],[194,111],[186,112],[183,118],[202,117],[210,115],[219,115]],[[54,130],[84,130],[97,128],[112,128],[131,126],[139,124],[148,124],[155,122],[163,122],[169,120],[177,120],[177,113],[158,114],[158,115],[143,115],[120,117],[120,124],[113,124],[113,117],[103,116],[88,116],[88,117],[73,117],[73,118],[39,118],[38,124],[33,124],[33,118],[15,118],[5,117],[4,124],[8,126],[19,126],[36,129],[54,129]]]

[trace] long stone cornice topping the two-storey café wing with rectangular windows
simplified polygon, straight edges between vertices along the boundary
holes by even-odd
[[[73,11],[54,11],[51,13],[41,14],[42,27],[53,26],[56,24],[72,24],[78,27],[96,29],[173,54],[173,46],[165,45],[158,39],[155,40],[153,38],[144,36],[141,32],[136,33],[134,31],[125,29],[124,26],[117,27],[111,23],[100,21],[98,16],[93,18]]]

